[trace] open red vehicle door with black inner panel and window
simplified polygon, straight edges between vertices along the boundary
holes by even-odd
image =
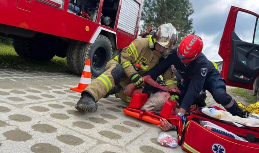
[[[259,15],[231,6],[218,54],[226,85],[253,89],[259,75]]]

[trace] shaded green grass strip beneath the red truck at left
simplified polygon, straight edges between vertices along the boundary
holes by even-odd
[[[0,43],[0,68],[71,73],[66,58],[55,56],[48,62],[33,61],[21,58],[13,46],[2,43]]]

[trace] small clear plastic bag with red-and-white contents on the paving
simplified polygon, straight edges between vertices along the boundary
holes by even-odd
[[[157,142],[160,143],[162,146],[165,146],[165,147],[174,148],[174,147],[178,146],[177,137],[172,135],[172,134],[169,134],[167,132],[161,132],[158,135]]]

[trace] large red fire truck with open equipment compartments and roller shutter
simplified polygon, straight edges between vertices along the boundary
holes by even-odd
[[[67,57],[81,75],[91,59],[92,78],[137,38],[143,0],[1,0],[0,35],[14,39],[18,55],[49,61]]]

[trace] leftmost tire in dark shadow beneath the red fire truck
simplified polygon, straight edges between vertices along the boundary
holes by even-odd
[[[20,56],[24,58],[29,58],[29,41],[14,39],[14,50]]]

